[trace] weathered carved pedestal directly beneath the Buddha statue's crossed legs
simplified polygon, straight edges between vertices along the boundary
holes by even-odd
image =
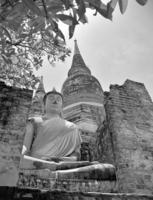
[[[46,170],[25,170],[20,172],[18,187],[67,192],[116,192],[116,181],[96,181],[84,179],[61,179],[51,176]]]

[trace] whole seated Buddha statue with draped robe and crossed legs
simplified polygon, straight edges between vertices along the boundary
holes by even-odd
[[[48,92],[43,103],[44,115],[28,120],[20,168],[58,171],[64,178],[115,180],[113,165],[80,161],[81,135],[77,125],[62,117],[62,95]]]

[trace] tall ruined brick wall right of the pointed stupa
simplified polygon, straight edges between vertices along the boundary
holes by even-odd
[[[112,85],[105,109],[119,192],[153,194],[153,103],[145,86]]]

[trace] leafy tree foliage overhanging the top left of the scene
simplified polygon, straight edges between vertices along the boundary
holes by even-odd
[[[147,0],[136,0],[145,5]],[[95,10],[106,19],[119,4],[123,14],[128,0],[1,0],[0,3],[0,79],[10,84],[34,87],[38,78],[33,67],[39,69],[45,54],[48,60],[64,60],[70,50],[59,22],[68,25],[69,38],[75,27],[86,23],[86,10]]]

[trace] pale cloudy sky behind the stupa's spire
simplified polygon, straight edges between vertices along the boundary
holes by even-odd
[[[46,92],[53,87],[61,91],[71,67],[74,39],[77,39],[86,65],[104,91],[109,91],[111,84],[122,85],[130,79],[144,83],[153,99],[153,1],[140,6],[129,0],[124,15],[117,6],[113,21],[93,16],[94,12],[88,12],[88,24],[80,24],[74,37],[67,39],[72,54],[65,62],[57,62],[53,67],[44,61],[38,74],[44,78]],[[61,29],[68,38],[68,27],[61,25]]]

